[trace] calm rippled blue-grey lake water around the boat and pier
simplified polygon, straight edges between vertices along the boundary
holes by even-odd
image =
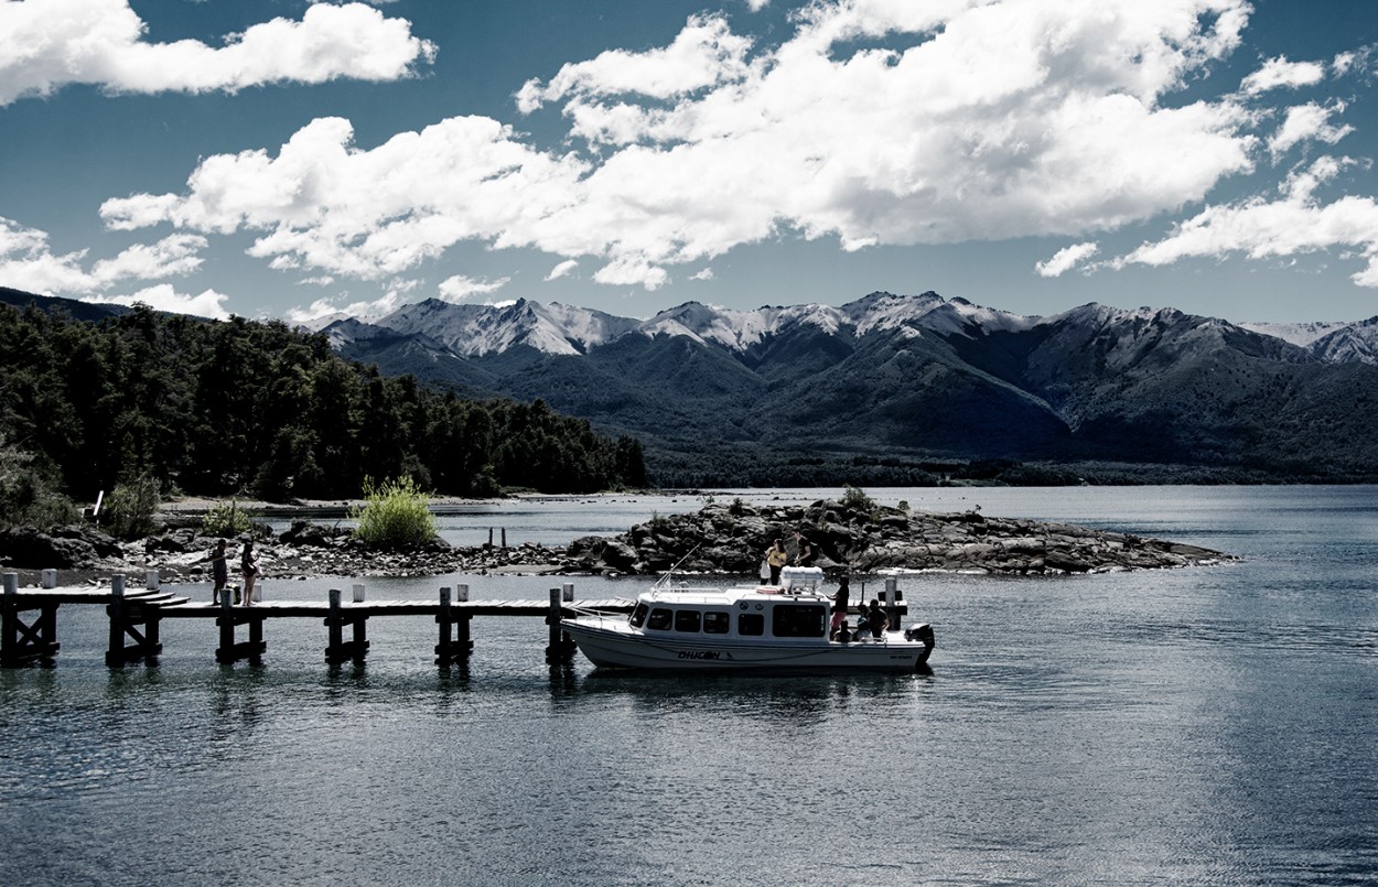
[[[270,623],[258,668],[215,665],[214,625],[169,620],[157,667],[112,671],[103,613],[65,606],[55,667],[0,674],[0,884],[1378,881],[1378,489],[868,492],[1244,561],[905,577],[937,632],[923,675],[551,669],[532,618],[475,620],[463,671],[433,665],[419,618],[372,620],[367,665],[338,668],[316,620]],[[513,503],[442,530],[564,543],[701,501]]]

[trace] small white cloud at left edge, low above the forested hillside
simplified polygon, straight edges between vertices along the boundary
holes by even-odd
[[[0,280],[40,293],[83,295],[128,280],[160,280],[201,267],[207,238],[171,234],[154,244],[135,244],[113,259],[84,266],[87,251],[54,253],[48,234],[0,218]]]

